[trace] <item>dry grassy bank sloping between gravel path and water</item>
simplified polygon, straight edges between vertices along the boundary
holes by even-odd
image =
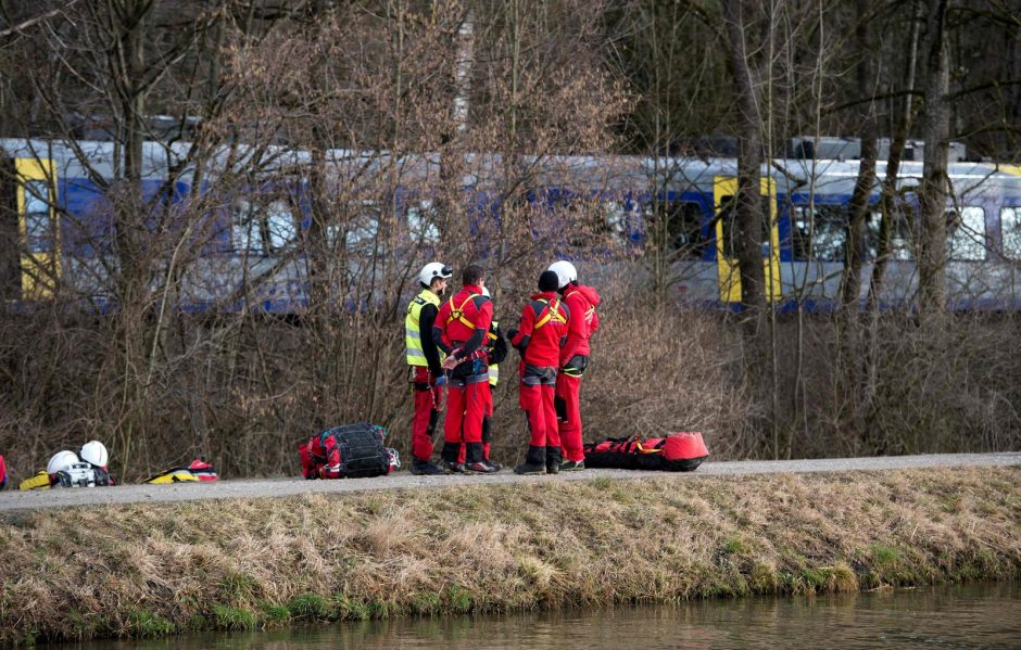
[[[1021,468],[72,508],[0,555],[0,642],[1008,579]]]

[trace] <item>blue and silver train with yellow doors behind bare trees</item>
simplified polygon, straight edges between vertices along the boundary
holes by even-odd
[[[153,230],[186,232],[178,237],[177,247],[187,242],[189,251],[198,252],[179,278],[177,308],[270,314],[307,308],[312,299],[308,267],[295,246],[312,225],[307,174],[312,155],[280,145],[232,145],[210,156],[200,175],[196,163],[189,162],[191,146],[187,142],[144,143],[138,186],[144,205],[139,209],[151,212],[147,218]],[[797,153],[770,158],[760,170],[767,216],[761,244],[767,296],[782,310],[824,311],[840,301],[848,204],[859,161]],[[261,156],[257,164],[256,155]],[[5,304],[26,307],[72,295],[85,296],[96,308],[111,308],[111,269],[116,268],[111,193],[118,190],[110,181],[116,176],[118,160],[113,142],[0,140],[0,242],[16,242],[16,253],[0,260]],[[344,209],[353,212],[342,226],[328,228],[330,245],[349,254],[370,247],[383,217],[401,225],[402,250],[409,256],[439,243],[437,200],[430,193],[442,176],[443,161],[438,155],[329,150],[322,160],[332,178],[350,181],[349,189],[358,184],[355,178],[365,181],[383,176],[391,188],[386,199],[369,192],[354,207],[351,201],[344,203]],[[533,214],[550,214],[563,226],[572,214],[580,214],[571,213],[571,205],[580,205],[587,219],[600,220],[630,252],[630,264],[641,264],[652,246],[658,246],[669,262],[678,301],[702,309],[740,305],[732,209],[738,165],[733,157],[546,156],[520,157],[513,164],[534,171],[524,194]],[[459,161],[459,187],[471,211],[500,218],[500,183],[509,165],[496,154],[472,154]],[[877,163],[880,179],[885,165],[882,160]],[[234,182],[229,194],[207,200],[220,181],[226,183],[244,166],[259,170],[249,175],[248,184]],[[921,177],[920,162],[902,163],[898,216],[891,222],[879,296],[886,308],[915,304],[916,190]],[[231,178],[236,180],[237,175]],[[274,180],[263,180],[269,178]],[[948,178],[953,188],[947,203],[948,307],[1018,309],[1021,166],[960,160],[949,165]],[[197,197],[206,197],[202,219],[175,226],[177,208]],[[878,253],[879,202],[875,188],[862,251],[862,304]],[[650,232],[652,222],[660,229],[658,238]],[[551,247],[558,256],[577,254],[569,242]],[[169,273],[174,251],[165,253],[161,268]],[[400,255],[401,251],[391,253]]]

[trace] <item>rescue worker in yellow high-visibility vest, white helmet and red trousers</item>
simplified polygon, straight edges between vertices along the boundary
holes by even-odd
[[[407,306],[404,318],[404,345],[411,381],[415,390],[412,416],[412,473],[442,474],[432,464],[432,434],[443,406],[446,377],[440,367],[440,351],[432,341],[432,326],[440,310],[440,296],[446,291],[451,267],[431,262],[418,273],[421,292]]]

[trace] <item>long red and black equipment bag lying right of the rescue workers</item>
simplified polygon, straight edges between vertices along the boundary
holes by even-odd
[[[708,458],[701,433],[675,433],[666,437],[604,438],[584,445],[585,466],[622,470],[690,472]]]

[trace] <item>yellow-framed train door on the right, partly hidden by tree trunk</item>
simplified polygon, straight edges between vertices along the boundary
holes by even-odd
[[[770,301],[780,298],[780,230],[777,219],[777,190],[771,178],[762,178],[760,194],[762,214],[769,222],[768,242],[762,242],[766,272],[766,297]],[[741,302],[741,271],[738,268],[735,252],[736,229],[734,228],[734,195],[738,193],[738,179],[731,176],[717,176],[713,179],[713,212],[716,222],[716,266],[719,277],[719,295],[723,303]]]

